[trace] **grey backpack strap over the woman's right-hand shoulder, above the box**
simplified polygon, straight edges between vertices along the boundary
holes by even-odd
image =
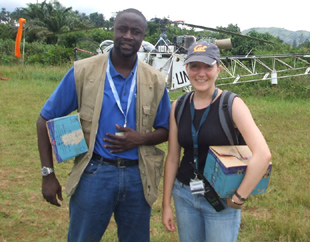
[[[232,119],[232,102],[236,93],[224,90],[220,98],[219,119],[226,137],[231,145],[239,144],[238,135]]]

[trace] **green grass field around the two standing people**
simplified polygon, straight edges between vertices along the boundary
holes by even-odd
[[[0,66],[0,241],[66,241],[68,202],[60,208],[41,195],[36,119],[69,66]],[[310,81],[281,80],[221,87],[248,104],[272,152],[267,193],[251,196],[238,241],[310,241]],[[180,93],[171,94],[175,99]],[[161,144],[167,150],[167,143]],[[63,188],[72,161],[55,164]],[[162,187],[162,183],[161,183]],[[161,223],[161,199],[153,206],[151,241],[178,241]],[[112,219],[102,241],[117,241]]]

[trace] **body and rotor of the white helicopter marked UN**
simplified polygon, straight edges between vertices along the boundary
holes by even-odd
[[[204,26],[192,25],[192,24],[184,23],[184,21],[172,22],[167,19],[164,19],[163,21],[164,21],[164,24],[161,25],[162,26],[161,35],[158,41],[156,42],[156,44],[153,45],[147,41],[143,41],[140,47],[140,50],[138,52],[138,58],[150,64],[151,66],[155,67],[156,69],[160,70],[165,75],[166,86],[169,91],[175,91],[178,89],[183,89],[185,91],[188,91],[191,89],[190,82],[189,82],[188,76],[185,71],[184,60],[187,56],[187,50],[189,46],[193,42],[195,42],[197,39],[195,36],[192,36],[192,35],[174,36],[171,42],[170,40],[168,40],[167,35],[165,34],[167,23],[177,23],[177,24],[186,25],[192,28],[211,30],[211,31],[230,34],[233,36],[240,36],[243,38],[249,38],[249,39],[254,39],[260,42],[266,42],[266,43],[273,44],[273,42],[262,40],[259,38],[242,35],[242,34],[230,32],[230,31],[226,31],[222,29],[213,29],[213,28],[204,27]],[[231,43],[230,38],[222,39],[222,40],[208,38],[204,40],[216,44],[219,47],[219,49],[231,49],[232,48],[232,43]],[[77,53],[78,51],[82,51],[88,54],[105,53],[105,52],[108,52],[113,47],[113,41],[105,40],[99,45],[96,43],[94,47],[92,48],[92,49],[95,49],[94,53],[80,49],[77,46],[75,48],[75,52]],[[221,61],[221,65],[224,67],[224,70],[230,76],[235,77],[235,73],[231,73],[222,61]],[[253,74],[256,75],[255,73]]]

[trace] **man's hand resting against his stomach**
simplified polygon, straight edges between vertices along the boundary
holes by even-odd
[[[116,124],[116,128],[119,132],[123,132],[124,135],[114,135],[107,133],[108,138],[104,138],[105,142],[110,143],[109,145],[104,145],[104,148],[111,149],[111,153],[119,153],[125,150],[130,150],[138,145],[142,144],[142,135],[128,127],[121,127]]]

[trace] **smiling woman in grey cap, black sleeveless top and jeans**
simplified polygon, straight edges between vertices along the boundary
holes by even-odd
[[[185,65],[194,92],[185,104],[179,123],[181,128],[177,127],[175,119],[176,101],[171,107],[162,220],[168,231],[176,230],[171,207],[173,194],[181,242],[236,241],[241,223],[240,209],[263,177],[271,159],[266,141],[248,107],[236,97],[232,105],[233,121],[252,151],[245,177],[236,194],[221,199],[225,209],[220,212],[215,211],[203,193],[191,191],[191,183],[199,183],[195,165],[192,165],[193,161],[195,164],[195,158],[196,167],[203,173],[209,146],[229,145],[218,117],[222,90],[216,88],[215,81],[221,70],[219,62],[220,51],[216,45],[193,43]],[[195,150],[198,150],[198,154],[194,152],[194,144],[197,144]],[[184,154],[179,165],[181,147],[184,148]]]

